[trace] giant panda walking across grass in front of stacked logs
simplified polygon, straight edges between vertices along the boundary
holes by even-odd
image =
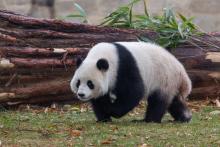
[[[146,99],[144,122],[160,123],[166,112],[189,122],[185,100],[191,81],[183,65],[164,48],[145,42],[98,43],[70,82],[81,101],[89,101],[98,122],[120,118]]]

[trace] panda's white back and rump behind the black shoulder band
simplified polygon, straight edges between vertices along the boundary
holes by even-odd
[[[156,89],[170,95],[168,97],[178,93],[183,76],[187,75],[182,64],[172,54],[152,43],[118,43],[125,46],[136,59],[145,85],[145,96]]]

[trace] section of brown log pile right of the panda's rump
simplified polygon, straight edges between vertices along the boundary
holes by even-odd
[[[177,49],[174,55],[183,63],[192,80],[193,90],[190,99],[219,98],[220,97],[220,52],[218,51],[190,51],[185,57],[178,56],[181,49]],[[188,48],[185,50],[188,50]],[[199,51],[200,50],[200,51]],[[194,55],[190,55],[190,52]]]

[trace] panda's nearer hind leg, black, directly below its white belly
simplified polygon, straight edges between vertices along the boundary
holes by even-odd
[[[159,90],[153,92],[148,97],[148,106],[144,121],[161,123],[167,108],[167,96]]]

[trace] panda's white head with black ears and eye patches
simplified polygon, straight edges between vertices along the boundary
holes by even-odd
[[[107,93],[109,69],[107,59],[98,60],[77,59],[77,70],[70,82],[71,90],[82,101],[89,101]]]

